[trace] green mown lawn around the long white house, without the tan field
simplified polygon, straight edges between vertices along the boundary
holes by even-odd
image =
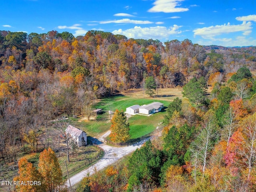
[[[74,126],[84,130],[88,135],[92,137],[96,137],[110,129],[110,114],[109,110],[115,111],[123,110],[126,111],[126,108],[132,105],[145,105],[154,102],[154,99],[143,99],[143,98],[130,98],[128,96],[116,96],[103,98],[100,102],[98,102],[94,108],[102,108],[103,113],[99,114],[96,120],[82,121],[78,122],[78,119],[74,119]],[[164,107],[166,108],[170,102],[164,100],[155,100],[155,102],[162,102]],[[162,124],[158,125],[164,119],[164,114],[166,109],[163,112],[158,112],[151,116],[142,116],[135,115],[128,119],[130,124],[130,135],[131,138],[138,138],[145,134],[148,134],[156,129],[157,126],[162,126]]]

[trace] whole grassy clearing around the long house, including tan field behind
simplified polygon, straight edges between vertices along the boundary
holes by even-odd
[[[159,89],[158,94],[154,97],[148,96],[145,92],[143,94],[142,89],[127,90],[120,93],[118,96],[106,97],[98,100],[94,105],[94,108],[102,108],[102,114],[98,114],[97,117],[92,117],[90,121],[86,118],[72,119],[74,126],[84,130],[88,135],[92,137],[99,137],[104,132],[110,129],[110,114],[108,111],[123,110],[135,104],[144,105],[152,102],[162,102],[164,104],[164,110],[152,114],[150,116],[135,115],[128,118],[130,124],[131,138],[138,138],[145,134],[148,134],[157,127],[163,126],[161,122],[164,119],[166,108],[174,98],[182,98],[182,88],[164,88]],[[144,98],[143,98],[144,96]]]

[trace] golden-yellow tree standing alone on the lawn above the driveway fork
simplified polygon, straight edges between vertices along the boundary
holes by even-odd
[[[120,143],[126,142],[130,139],[130,127],[126,122],[127,118],[123,111],[116,110],[111,120],[111,134],[110,140],[112,142]]]

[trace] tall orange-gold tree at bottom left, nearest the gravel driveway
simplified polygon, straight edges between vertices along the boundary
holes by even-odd
[[[42,175],[43,184],[47,192],[65,191],[65,181],[62,179],[62,171],[58,159],[51,148],[40,153],[38,171]]]

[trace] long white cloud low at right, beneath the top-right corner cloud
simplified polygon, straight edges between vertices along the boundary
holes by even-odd
[[[198,28],[193,30],[194,36],[202,36],[204,39],[212,39],[214,36],[221,35],[224,33],[232,33],[232,32],[244,32],[246,34],[249,34],[249,31],[252,29],[251,22],[243,22],[240,25],[230,25],[224,24],[224,25],[216,25],[216,26],[210,26],[210,27],[204,27],[204,28]]]

